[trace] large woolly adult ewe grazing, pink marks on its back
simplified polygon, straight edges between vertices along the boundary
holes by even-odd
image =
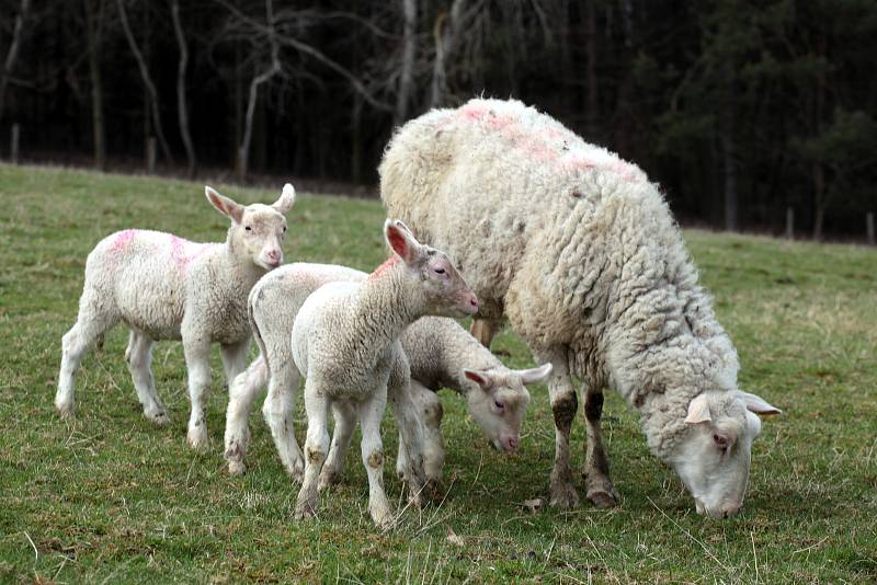
[[[481,300],[489,345],[508,320],[539,362],[555,418],[550,502],[573,507],[569,433],[583,386],[586,497],[616,505],[601,438],[603,389],[635,408],[651,452],[698,513],[742,505],[755,414],[777,409],[738,388],[734,347],[658,185],[517,101],[471,100],[409,122],[379,168],[387,211],[446,250]]]

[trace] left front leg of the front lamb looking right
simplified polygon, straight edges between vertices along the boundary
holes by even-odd
[[[318,481],[322,463],[329,452],[329,418],[330,400],[326,394],[317,392],[310,387],[310,380],[305,385],[305,411],[308,415],[308,435],[305,440],[305,478],[301,490],[295,503],[295,517],[303,520],[315,516],[320,504]]]

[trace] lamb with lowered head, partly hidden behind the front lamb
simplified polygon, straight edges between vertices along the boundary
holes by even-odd
[[[366,277],[366,273],[344,266],[296,263],[272,271],[253,286],[248,311],[261,355],[229,389],[225,456],[230,473],[239,474],[246,470],[243,459],[250,439],[247,420],[257,393],[271,378],[274,390],[270,394],[281,400],[265,401],[265,420],[284,466],[293,478],[300,481],[304,458],[292,431],[296,390],[292,380],[297,375],[292,363],[289,333],[295,316],[307,296],[320,286],[338,280],[362,282]],[[451,388],[465,395],[469,413],[498,450],[513,451],[517,448],[521,425],[529,403],[529,393],[524,386],[547,377],[549,364],[540,368],[511,370],[456,321],[442,317],[417,320],[405,330],[400,341],[411,369],[410,392],[424,425],[423,466],[428,482],[441,481],[444,462],[440,388]],[[266,364],[271,364],[270,376]],[[344,412],[340,413],[342,408]],[[350,444],[350,435],[340,431],[352,432],[355,422],[350,408],[337,403],[333,413],[337,420],[333,448],[323,464],[320,487],[340,481]],[[343,415],[346,416],[342,421]],[[402,440],[399,443],[401,445]],[[396,467],[402,475],[408,467],[405,457],[397,458]]]

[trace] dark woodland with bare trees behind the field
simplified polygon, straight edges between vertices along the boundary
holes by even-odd
[[[0,0],[0,157],[374,192],[396,125],[514,96],[685,222],[861,239],[875,59],[875,0]]]

